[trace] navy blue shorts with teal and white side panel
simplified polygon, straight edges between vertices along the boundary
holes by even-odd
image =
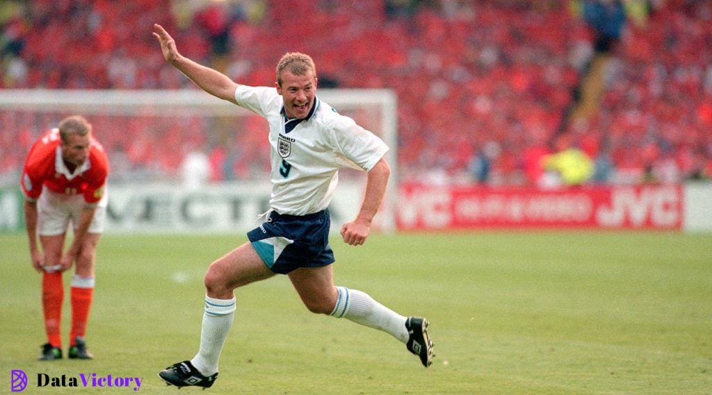
[[[247,238],[271,271],[288,274],[300,267],[334,263],[334,251],[329,247],[330,226],[328,210],[308,215],[273,211],[266,222],[247,232]]]

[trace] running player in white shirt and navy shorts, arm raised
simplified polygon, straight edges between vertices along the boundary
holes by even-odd
[[[167,367],[159,377],[174,386],[212,386],[234,320],[235,288],[275,274],[289,277],[311,312],[387,332],[428,367],[434,355],[425,318],[399,315],[366,293],[335,286],[333,281],[327,207],[338,170],[351,166],[368,172],[360,212],[340,230],[344,242],[360,246],[388,183],[390,168],[383,158],[388,147],[316,97],[316,69],[308,55],[284,55],[277,65],[275,87],[248,87],[182,56],[161,26],[154,25],[153,35],[164,58],[202,90],[267,119],[273,185],[266,221],[248,232],[249,242],[209,266],[197,355]]]

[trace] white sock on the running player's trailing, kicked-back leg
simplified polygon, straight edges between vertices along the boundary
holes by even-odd
[[[408,342],[404,316],[378,303],[365,292],[342,286],[337,286],[336,289],[339,297],[330,315],[382,330],[401,342]]]

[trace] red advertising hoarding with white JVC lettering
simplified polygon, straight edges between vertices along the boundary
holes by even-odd
[[[681,185],[400,188],[400,230],[471,228],[681,229]]]

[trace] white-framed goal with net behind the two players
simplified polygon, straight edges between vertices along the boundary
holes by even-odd
[[[389,146],[392,178],[377,227],[392,231],[398,179],[394,92],[322,89],[318,97]],[[108,151],[108,231],[240,229],[253,227],[251,215],[266,210],[266,121],[200,90],[0,90],[0,188],[14,188],[31,144],[70,114],[86,117]],[[189,188],[183,166],[196,152],[211,165],[209,180]],[[364,172],[340,171],[330,207],[335,222],[355,216],[364,185]]]

